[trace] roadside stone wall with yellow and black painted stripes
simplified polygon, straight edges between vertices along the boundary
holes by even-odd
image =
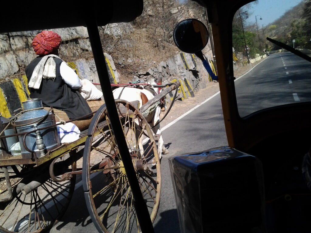
[[[22,106],[22,102],[30,99],[26,75],[15,75],[20,67],[27,66],[35,57],[32,48],[33,38],[42,30],[24,31],[16,33],[0,34],[0,112],[4,117],[13,115],[13,111]],[[80,58],[68,62],[70,57],[79,57],[85,51],[91,51],[88,33],[85,27],[72,27],[53,29],[58,33],[63,42],[59,48],[60,56],[74,69],[81,79],[88,79],[93,83],[99,83],[94,59]],[[207,46],[207,57],[210,57],[210,46]],[[113,58],[104,53],[106,66],[111,83],[119,82],[119,74],[114,65]],[[80,56],[81,57],[81,56]],[[162,84],[179,80],[181,86],[178,89],[177,98],[183,100],[193,97],[198,89],[205,88],[211,79],[207,74],[200,59],[193,54],[179,53],[166,62],[160,62],[148,71],[138,71],[133,81],[147,82],[150,79],[160,80]],[[100,86],[96,86],[100,89]],[[170,102],[173,94],[169,94]]]

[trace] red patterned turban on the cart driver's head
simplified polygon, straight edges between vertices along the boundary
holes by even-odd
[[[37,55],[47,55],[54,49],[59,48],[62,39],[60,36],[52,31],[42,31],[35,36],[32,41],[32,46]]]

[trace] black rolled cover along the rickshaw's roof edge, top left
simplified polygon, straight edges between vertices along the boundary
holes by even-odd
[[[86,26],[96,17],[99,26],[130,22],[142,14],[142,0],[91,0],[87,2],[25,2],[0,14],[0,33]]]

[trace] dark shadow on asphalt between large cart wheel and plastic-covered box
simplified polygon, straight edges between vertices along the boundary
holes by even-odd
[[[160,213],[160,220],[154,226],[154,229],[156,233],[180,232],[177,209],[170,209]]]

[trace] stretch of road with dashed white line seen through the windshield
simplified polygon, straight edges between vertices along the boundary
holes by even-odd
[[[271,54],[235,82],[239,114],[311,100],[311,63],[292,54]]]

